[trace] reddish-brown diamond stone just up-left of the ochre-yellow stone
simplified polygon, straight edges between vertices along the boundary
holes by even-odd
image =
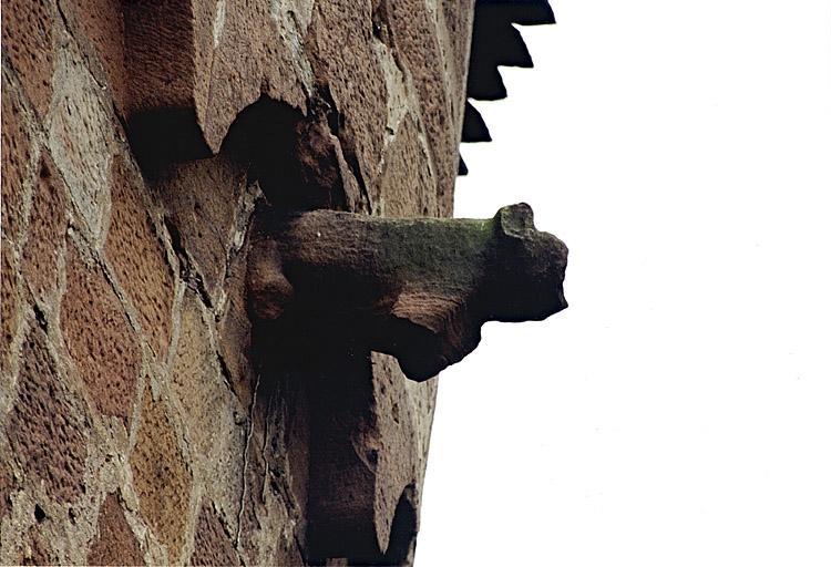
[[[103,270],[88,265],[74,245],[66,249],[61,330],[98,409],[129,429],[141,350]]]

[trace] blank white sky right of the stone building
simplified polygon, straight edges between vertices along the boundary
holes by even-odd
[[[442,373],[419,567],[831,565],[831,2],[553,0],[456,216],[570,309]]]

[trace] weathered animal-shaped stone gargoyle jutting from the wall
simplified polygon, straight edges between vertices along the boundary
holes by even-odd
[[[248,262],[254,315],[291,310],[346,326],[411,380],[472,352],[486,321],[542,320],[567,307],[568,250],[536,230],[524,203],[481,220],[315,210],[266,225]]]

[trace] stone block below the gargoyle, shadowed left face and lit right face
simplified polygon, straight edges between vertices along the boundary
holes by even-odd
[[[419,403],[393,358],[355,351],[339,355],[334,343],[330,349],[324,351],[325,361],[301,367],[306,380],[315,377],[309,550],[312,558],[401,565],[414,543],[416,486],[425,453]],[[409,516],[401,512],[402,498]]]

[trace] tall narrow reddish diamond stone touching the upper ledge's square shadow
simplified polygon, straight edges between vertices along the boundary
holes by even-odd
[[[116,154],[110,177],[113,205],[104,252],[138,312],[142,332],[164,361],[171,341],[173,272],[142,198],[138,172]]]

